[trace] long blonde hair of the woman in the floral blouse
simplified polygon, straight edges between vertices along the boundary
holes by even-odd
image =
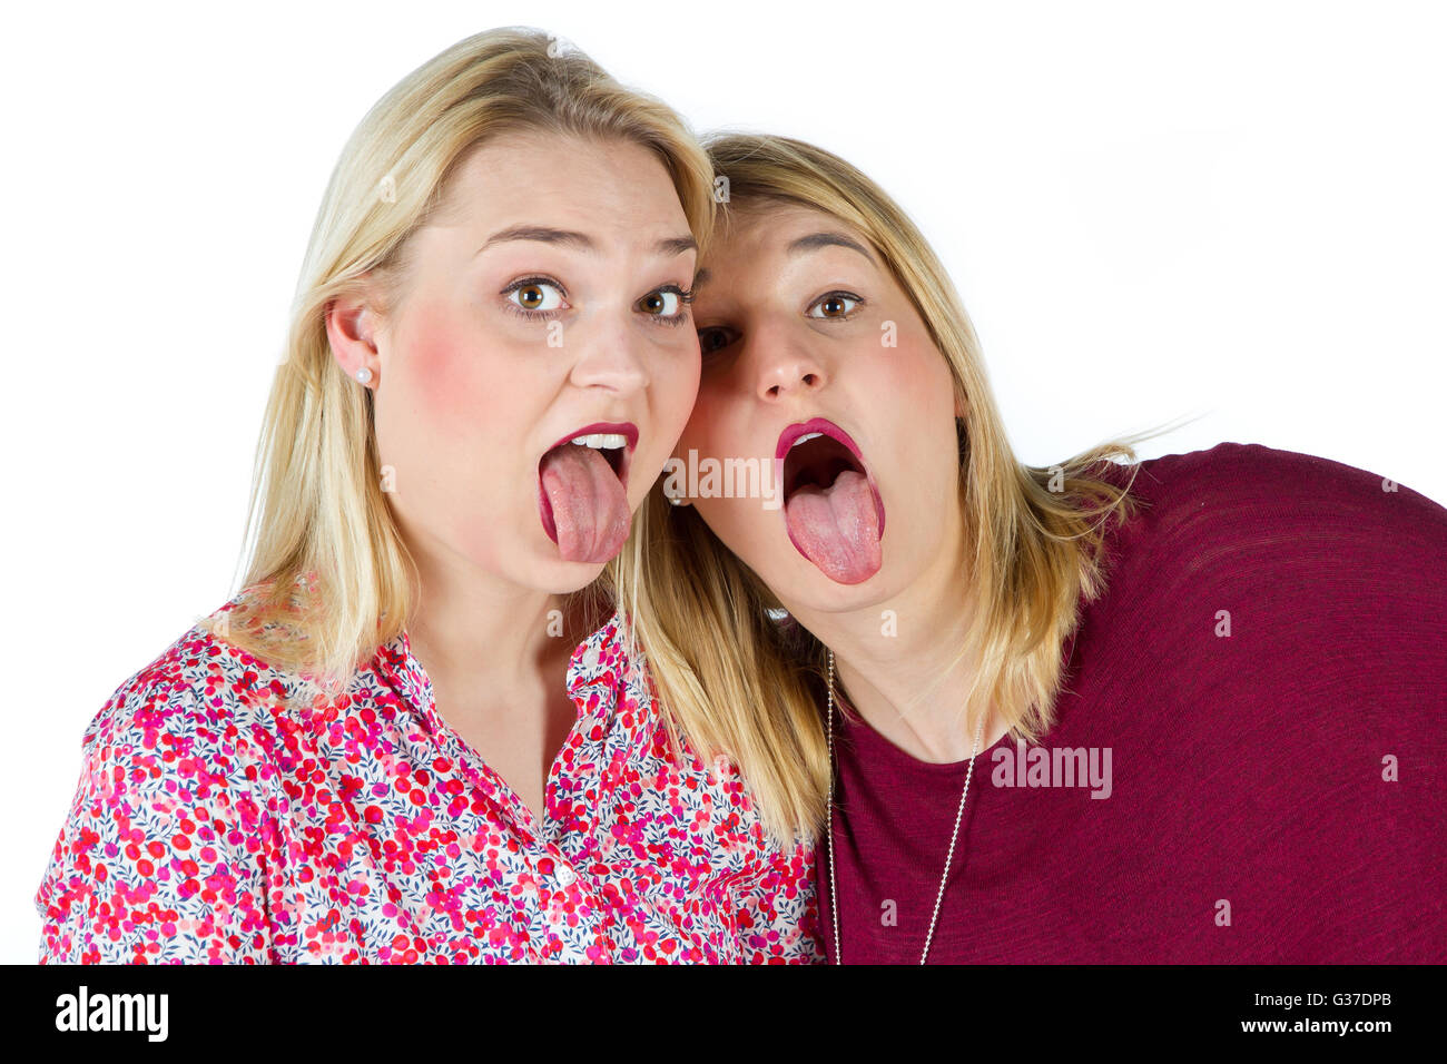
[[[466,38],[368,111],[301,268],[256,450],[240,602],[207,624],[326,689],[405,628],[417,572],[381,485],[372,391],[333,358],[327,308],[360,294],[365,274],[382,290],[379,310],[395,305],[411,235],[446,207],[467,155],[509,132],[641,145],[667,169],[700,249],[712,232],[712,168],[683,119],[540,30]]]

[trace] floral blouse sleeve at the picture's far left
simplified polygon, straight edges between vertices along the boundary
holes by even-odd
[[[164,672],[87,728],[84,767],[35,896],[41,963],[263,963],[271,818],[224,727]]]

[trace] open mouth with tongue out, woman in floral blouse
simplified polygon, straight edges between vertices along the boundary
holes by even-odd
[[[628,539],[628,466],[638,446],[631,421],[576,428],[538,459],[538,518],[566,562],[603,563]]]

